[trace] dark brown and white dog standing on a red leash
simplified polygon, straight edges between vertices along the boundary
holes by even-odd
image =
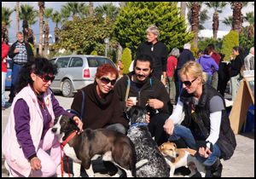
[[[59,141],[65,141],[67,136],[79,130],[73,119],[62,115],[55,118],[52,132],[58,136]],[[135,176],[136,153],[128,136],[114,130],[86,129],[67,142],[63,147],[64,153],[73,159],[74,176],[80,176],[80,165],[83,165],[89,177],[94,176],[91,159],[96,155],[103,155],[102,160],[111,161],[117,168],[125,170],[126,176]],[[75,169],[75,168],[78,168]],[[115,176],[119,176],[121,170]]]

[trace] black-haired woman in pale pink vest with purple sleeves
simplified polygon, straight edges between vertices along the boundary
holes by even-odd
[[[18,93],[3,133],[3,156],[10,176],[60,176],[60,142],[50,127],[56,117],[66,114],[82,130],[79,118],[67,113],[49,89],[56,73],[56,66],[42,57],[27,62],[20,70]]]

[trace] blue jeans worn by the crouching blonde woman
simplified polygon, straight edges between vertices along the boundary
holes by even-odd
[[[181,124],[175,124],[173,133],[171,136],[169,136],[169,141],[177,141],[180,138],[182,138],[185,141],[186,145],[189,148],[193,148],[193,149],[197,150],[195,137],[193,136],[191,130],[189,130],[189,128],[186,128],[185,126],[183,126]],[[220,151],[218,145],[215,143],[212,147],[212,153],[209,155],[209,157],[207,159],[202,158],[199,155],[195,155],[195,157],[196,157],[196,159],[201,161],[201,163],[203,165],[211,166],[215,163],[217,158],[221,157],[221,151]]]

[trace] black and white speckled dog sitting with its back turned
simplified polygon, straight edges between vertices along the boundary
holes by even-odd
[[[135,146],[137,161],[147,159],[148,163],[137,168],[137,177],[169,177],[169,167],[166,159],[160,153],[156,142],[152,139],[146,122],[146,109],[133,106],[127,110],[131,127],[127,136]]]

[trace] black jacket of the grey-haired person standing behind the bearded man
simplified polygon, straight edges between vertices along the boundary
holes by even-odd
[[[137,56],[142,54],[153,58],[153,75],[154,73],[161,75],[162,72],[166,72],[168,49],[164,43],[141,43],[137,48]]]

